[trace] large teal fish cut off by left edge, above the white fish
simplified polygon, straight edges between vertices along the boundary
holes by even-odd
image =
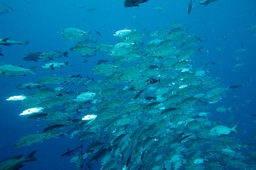
[[[26,73],[35,73],[36,67],[26,69],[22,65],[0,65],[0,76],[13,77],[13,76],[26,76]]]

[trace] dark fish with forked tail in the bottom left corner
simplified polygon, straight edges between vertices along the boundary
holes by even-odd
[[[23,163],[37,160],[34,157],[34,154],[36,152],[37,150],[34,150],[33,152],[30,152],[25,157],[22,157],[23,155],[19,155],[19,156],[8,158],[6,160],[2,160],[0,161],[0,169],[1,170],[18,170],[19,168],[22,168],[25,166],[23,165]]]

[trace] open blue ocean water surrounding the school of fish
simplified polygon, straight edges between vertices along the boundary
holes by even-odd
[[[70,163],[70,157],[62,157],[61,154],[67,148],[80,145],[81,142],[76,139],[61,136],[30,146],[13,148],[14,142],[22,136],[42,132],[46,122],[19,117],[19,113],[24,110],[20,101],[6,101],[6,98],[21,94],[31,95],[34,89],[22,90],[16,86],[37,81],[39,77],[53,74],[93,77],[90,69],[98,60],[107,59],[108,56],[106,53],[97,53],[88,57],[88,62],[84,63],[84,57],[70,51],[75,42],[63,40],[62,30],[76,26],[82,30],[91,30],[91,39],[97,40],[97,43],[114,44],[119,40],[113,36],[117,30],[127,28],[152,33],[170,26],[171,22],[182,22],[190,34],[205,40],[202,43],[202,53],[194,54],[195,65],[202,65],[208,75],[217,78],[225,87],[250,82],[250,85],[226,90],[221,101],[209,105],[210,121],[221,121],[222,125],[228,126],[238,124],[239,133],[230,135],[242,140],[245,145],[256,142],[256,30],[247,31],[250,26],[256,25],[254,0],[218,0],[208,6],[193,1],[194,7],[190,14],[187,14],[186,0],[149,0],[132,8],[125,8],[122,0],[2,0],[0,3],[10,5],[13,9],[8,8],[9,12],[0,15],[0,38],[30,42],[29,45],[0,45],[1,53],[4,54],[0,57],[0,65],[37,66],[36,76],[0,77],[0,160],[37,150],[37,161],[25,163],[26,166],[22,169],[75,169],[75,164]],[[165,11],[154,10],[157,6],[162,6]],[[88,12],[86,9],[97,11]],[[98,36],[94,30],[99,31],[102,36]],[[216,40],[223,37],[227,39]],[[246,50],[240,52],[240,49]],[[22,60],[27,53],[50,50],[68,51],[68,61],[74,66],[53,72],[42,69],[42,61]],[[234,60],[236,57],[240,59]],[[94,77],[101,79],[101,76]],[[232,113],[218,113],[216,109],[220,106],[231,107]],[[229,118],[232,115],[235,115],[235,120],[230,124]],[[88,145],[86,141],[83,143],[84,146]],[[99,168],[95,166],[94,169]]]

